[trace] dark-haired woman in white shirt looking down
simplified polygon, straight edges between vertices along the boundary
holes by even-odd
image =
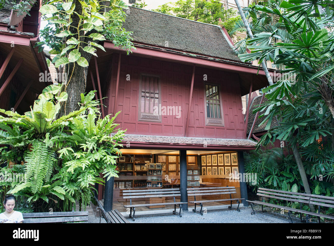
[[[14,211],[16,198],[13,195],[6,196],[3,205],[5,212],[0,214],[0,223],[22,223],[23,215],[21,212]]]

